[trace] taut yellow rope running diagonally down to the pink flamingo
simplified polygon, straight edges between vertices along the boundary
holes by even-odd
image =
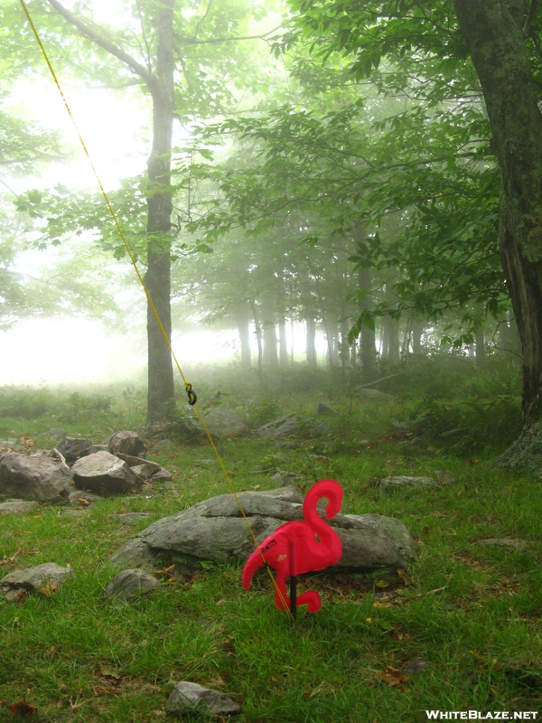
[[[40,49],[41,49],[41,51],[42,51],[43,58],[45,59],[45,62],[47,63],[47,66],[48,66],[48,68],[49,68],[49,70],[50,70],[50,72],[51,72],[52,79],[54,80],[55,85],[56,85],[57,89],[59,90],[59,93],[61,94],[61,99],[62,99],[62,101],[63,101],[63,103],[64,103],[64,106],[65,106],[66,110],[68,111],[68,115],[70,116],[71,123],[73,124],[73,127],[75,128],[75,132],[76,132],[77,136],[79,137],[79,142],[80,142],[81,146],[83,147],[83,151],[85,152],[85,155],[87,156],[87,159],[88,159],[89,164],[90,164],[90,168],[92,169],[92,172],[93,172],[94,176],[96,177],[96,181],[97,181],[97,183],[98,183],[99,189],[100,189],[100,191],[102,192],[102,195],[103,195],[103,197],[104,197],[104,200],[105,200],[105,202],[106,202],[106,204],[107,204],[107,208],[109,209],[109,212],[110,212],[110,214],[111,214],[111,216],[112,216],[112,218],[113,218],[113,221],[115,222],[115,225],[116,225],[116,227],[117,227],[117,231],[118,231],[118,233],[119,233],[119,235],[120,235],[120,238],[122,239],[122,242],[123,242],[123,244],[124,244],[124,246],[125,246],[126,253],[128,254],[128,258],[130,259],[130,262],[132,263],[132,266],[134,267],[135,273],[137,274],[137,278],[139,279],[139,283],[141,284],[141,286],[143,287],[143,290],[145,291],[145,296],[146,296],[148,305],[151,307],[151,310],[152,310],[152,312],[153,312],[154,318],[156,319],[156,323],[157,323],[158,326],[160,327],[160,331],[162,332],[162,334],[163,334],[163,336],[164,336],[165,343],[167,344],[167,347],[168,347],[169,351],[171,352],[171,355],[172,355],[172,358],[173,358],[173,362],[175,362],[175,366],[177,367],[177,370],[179,371],[179,374],[181,375],[182,381],[184,382],[184,387],[185,387],[185,389],[186,389],[187,391],[188,391],[188,390],[192,390],[192,385],[189,384],[189,382],[186,380],[184,374],[182,373],[181,365],[180,365],[180,363],[178,362],[177,357],[175,356],[175,352],[173,352],[172,344],[171,344],[171,342],[170,342],[170,340],[169,340],[169,337],[168,337],[168,335],[167,335],[167,333],[166,333],[166,331],[165,331],[165,329],[164,329],[164,324],[162,324],[162,319],[160,318],[160,315],[159,315],[158,312],[156,311],[156,307],[154,306],[153,299],[151,298],[151,295],[149,294],[149,291],[148,291],[148,289],[147,289],[147,287],[146,287],[146,285],[145,285],[145,280],[144,280],[144,278],[141,276],[141,273],[140,273],[140,271],[139,271],[139,268],[137,268],[137,263],[135,262],[134,254],[132,253],[132,251],[131,251],[131,249],[130,249],[130,247],[129,247],[129,245],[128,245],[128,242],[127,242],[127,240],[126,240],[126,236],[124,235],[124,231],[122,230],[122,228],[121,228],[121,226],[120,226],[120,223],[119,223],[119,221],[118,221],[118,219],[117,219],[117,214],[115,213],[115,211],[114,211],[114,209],[113,209],[113,206],[112,206],[111,203],[109,202],[109,199],[108,199],[108,197],[107,197],[107,192],[106,192],[106,190],[105,190],[105,188],[104,188],[103,184],[101,183],[100,178],[99,178],[99,176],[98,176],[98,171],[96,170],[96,167],[95,167],[94,164],[92,163],[92,159],[90,158],[89,151],[88,151],[88,149],[87,149],[87,146],[85,145],[85,141],[83,140],[83,137],[81,136],[81,134],[80,134],[80,132],[79,132],[79,127],[77,126],[77,123],[75,122],[75,118],[73,117],[73,115],[72,115],[72,113],[71,113],[71,109],[70,109],[70,106],[69,106],[69,104],[68,104],[68,100],[66,99],[66,97],[65,97],[65,95],[64,95],[64,92],[63,92],[63,90],[61,89],[61,84],[60,84],[60,82],[59,82],[59,80],[58,80],[58,78],[57,78],[57,75],[56,75],[56,73],[55,73],[52,65],[51,65],[51,61],[49,60],[49,56],[47,55],[47,52],[45,51],[45,48],[43,47],[43,43],[42,43],[42,40],[41,40],[41,38],[40,38],[40,34],[38,33],[38,31],[37,31],[37,29],[36,29],[36,26],[35,26],[34,23],[33,23],[33,19],[32,19],[32,17],[30,16],[30,13],[29,13],[29,11],[28,11],[28,7],[27,7],[26,3],[24,2],[24,0],[20,0],[20,3],[21,3],[21,5],[23,6],[24,14],[26,15],[26,18],[27,18],[27,20],[28,20],[28,23],[30,24],[30,26],[31,26],[31,28],[32,28],[32,30],[33,30],[33,34],[34,34],[34,36],[35,36],[35,38],[36,38],[36,41],[38,42],[38,45],[40,46]],[[193,405],[193,408],[196,410],[196,412],[197,412],[197,414],[198,414],[198,417],[200,418],[201,426],[203,427],[203,429],[204,429],[204,431],[205,431],[205,434],[206,434],[207,438],[209,439],[210,446],[212,447],[212,450],[213,450],[213,452],[214,452],[214,454],[215,454],[215,456],[216,456],[216,458],[217,458],[217,460],[218,460],[218,462],[219,462],[220,469],[222,470],[222,473],[223,473],[224,476],[226,477],[226,481],[227,481],[228,484],[229,484],[229,489],[231,490],[231,493],[233,494],[233,496],[234,496],[234,498],[235,498],[235,501],[238,503],[239,511],[241,512],[241,514],[242,514],[242,516],[243,516],[243,519],[244,519],[245,522],[247,523],[248,531],[250,532],[250,535],[251,535],[251,537],[252,537],[252,540],[254,540],[254,544],[255,544],[255,546],[256,546],[256,549],[259,549],[259,552],[260,552],[260,555],[261,555],[261,557],[262,557],[262,560],[263,560],[263,562],[264,562],[264,564],[265,564],[265,566],[266,566],[267,572],[269,573],[269,577],[271,577],[271,581],[272,581],[272,583],[273,583],[273,586],[275,587],[275,589],[276,589],[276,591],[277,591],[277,593],[278,593],[278,596],[280,597],[280,600],[281,600],[281,602],[283,603],[283,605],[285,606],[286,610],[288,611],[290,617],[291,617],[292,619],[294,619],[294,616],[292,615],[292,613],[290,612],[289,607],[287,606],[285,597],[284,597],[283,594],[282,594],[282,590],[280,589],[280,587],[278,587],[278,585],[277,585],[277,583],[276,583],[276,579],[275,579],[273,573],[271,572],[271,568],[269,568],[269,566],[266,564],[266,559],[264,558],[264,554],[263,554],[262,550],[259,548],[259,543],[258,543],[258,541],[257,541],[256,535],[254,534],[254,531],[252,530],[252,527],[250,526],[250,522],[248,521],[248,517],[247,517],[247,515],[245,514],[245,511],[243,510],[243,506],[241,505],[241,502],[239,501],[238,495],[237,495],[237,493],[236,493],[236,491],[235,491],[235,489],[234,489],[234,486],[233,486],[233,484],[232,484],[232,482],[231,482],[231,479],[230,479],[230,477],[229,477],[228,470],[226,469],[226,467],[224,466],[224,463],[222,462],[222,458],[220,457],[219,450],[217,449],[215,443],[213,442],[213,439],[212,439],[212,437],[211,437],[211,435],[210,435],[210,431],[209,431],[207,425],[205,424],[205,420],[203,419],[203,416],[201,415],[201,411],[200,411],[200,409],[198,408],[197,404],[194,404],[194,405]]]

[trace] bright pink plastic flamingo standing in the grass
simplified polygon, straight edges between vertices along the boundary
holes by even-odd
[[[316,504],[322,497],[328,499],[325,514],[331,520],[341,510],[342,487],[334,480],[321,480],[305,495],[304,522],[285,522],[278,527],[250,555],[243,569],[246,590],[257,568],[264,566],[264,559],[267,565],[276,569],[275,602],[279,610],[287,610],[290,603],[286,596],[286,577],[322,570],[341,559],[339,535],[316,511]],[[316,613],[322,607],[322,601],[318,593],[311,590],[297,597],[297,605],[306,605],[309,613]]]

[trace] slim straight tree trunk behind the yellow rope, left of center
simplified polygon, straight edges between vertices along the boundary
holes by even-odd
[[[147,272],[145,285],[168,340],[172,334],[170,237],[172,221],[171,162],[173,137],[173,5],[163,0],[156,18],[156,74],[153,97],[153,148],[147,162]],[[147,305],[147,421],[169,418],[175,408],[173,363],[164,333]]]

